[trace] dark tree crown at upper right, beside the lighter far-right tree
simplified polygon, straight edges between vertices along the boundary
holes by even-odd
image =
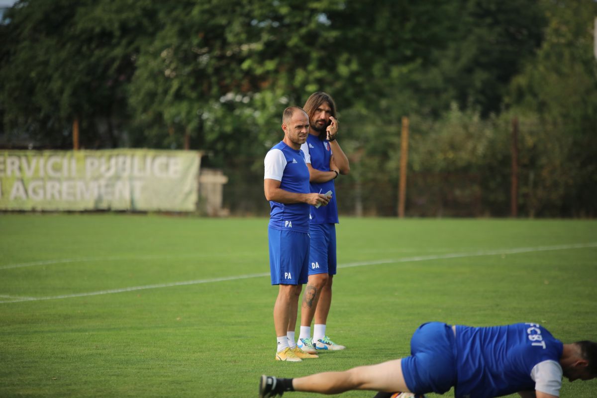
[[[435,45],[411,69],[394,64],[386,95],[401,97],[393,102],[404,106],[402,114],[437,117],[453,103],[484,117],[500,111],[510,79],[541,42],[545,18],[538,2],[461,0],[444,5],[438,17],[424,25],[437,32]]]

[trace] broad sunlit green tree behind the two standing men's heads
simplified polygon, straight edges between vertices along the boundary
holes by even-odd
[[[164,25],[131,84],[143,131],[137,142],[171,145],[191,134],[217,154],[262,155],[279,140],[282,109],[316,90],[330,92],[341,109],[377,112],[393,69],[445,45],[444,9],[439,1],[338,0],[162,7]]]

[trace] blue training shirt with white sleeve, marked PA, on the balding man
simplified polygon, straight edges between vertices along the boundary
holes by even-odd
[[[280,181],[280,188],[288,192],[309,193],[309,169],[301,150],[292,149],[280,141],[267,152],[264,160],[264,178]],[[278,230],[309,232],[307,203],[280,203],[269,201],[272,206],[269,226]]]

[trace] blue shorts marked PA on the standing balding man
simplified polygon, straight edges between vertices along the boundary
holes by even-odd
[[[268,227],[269,270],[272,285],[307,283],[309,274],[309,234]]]

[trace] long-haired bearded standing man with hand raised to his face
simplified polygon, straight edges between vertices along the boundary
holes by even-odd
[[[338,206],[334,179],[338,174],[348,174],[350,166],[336,135],[338,121],[336,104],[325,92],[315,92],[307,98],[304,110],[309,115],[309,137],[301,146],[310,175],[310,192],[331,191],[330,204],[311,208],[309,235],[309,282],[301,304],[300,335],[298,347],[307,353],[316,350],[343,350],[344,345],[330,340],[325,332],[332,301],[332,281],[336,274],[336,224]],[[311,322],[313,338],[311,338]]]

